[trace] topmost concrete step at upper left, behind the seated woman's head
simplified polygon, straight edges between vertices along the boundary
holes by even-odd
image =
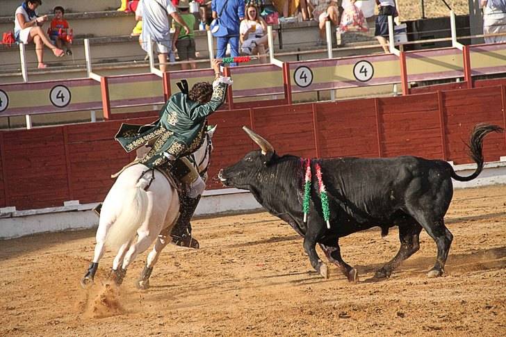
[[[16,8],[19,7],[22,0],[1,0],[0,3],[0,17],[14,17]],[[65,13],[99,12],[102,10],[116,10],[120,7],[120,0],[44,0],[37,12],[39,15],[53,14],[55,6],[63,6]]]

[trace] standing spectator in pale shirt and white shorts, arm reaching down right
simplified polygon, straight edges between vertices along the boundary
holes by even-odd
[[[142,49],[148,51],[148,37],[151,36],[152,42],[156,44],[160,70],[167,71],[167,56],[172,54],[172,42],[170,39],[169,15],[180,24],[185,33],[190,33],[190,29],[176,12],[176,8],[170,0],[140,0],[136,11],[136,20],[142,20],[142,33],[140,42]]]

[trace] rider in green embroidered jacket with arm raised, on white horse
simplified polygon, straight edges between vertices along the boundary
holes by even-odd
[[[186,183],[188,190],[180,196],[179,219],[172,229],[172,242],[185,247],[198,247],[197,240],[191,237],[190,219],[197,208],[200,196],[206,185],[199,175],[196,165],[178,158],[193,154],[204,142],[207,129],[207,116],[218,110],[224,103],[228,85],[232,81],[220,73],[220,61],[213,60],[215,81],[211,85],[199,82],[188,92],[188,83],[177,83],[181,92],[173,94],[160,110],[160,118],[152,124],[139,126],[122,124],[115,139],[127,151],[133,151],[147,144],[147,154],[138,159],[153,170],[179,170],[182,162],[183,174],[180,181]],[[174,165],[176,167],[174,167]]]

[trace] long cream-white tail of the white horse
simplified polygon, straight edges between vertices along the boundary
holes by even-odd
[[[147,193],[137,184],[117,195],[122,198],[122,207],[106,236],[106,247],[117,250],[136,235],[146,218]]]

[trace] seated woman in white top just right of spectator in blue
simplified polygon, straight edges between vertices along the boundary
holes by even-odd
[[[240,22],[240,51],[243,54],[266,54],[267,24],[260,17],[259,10],[250,3],[246,6],[245,19]],[[267,63],[267,56],[260,56],[260,63]]]

